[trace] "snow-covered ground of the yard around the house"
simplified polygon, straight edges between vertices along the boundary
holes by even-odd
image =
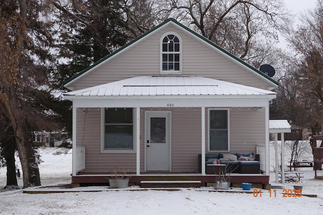
[[[39,166],[42,185],[69,184],[72,154],[55,155],[58,148],[40,149],[43,163]],[[272,153],[271,153],[272,154]],[[18,167],[20,166],[17,162]],[[212,187],[182,188],[178,191],[129,190],[116,191],[106,186],[71,188],[64,193],[27,194],[23,190],[0,192],[0,214],[323,214],[323,181],[314,180],[311,168],[300,169],[304,179],[303,194],[317,198],[283,197],[276,189],[272,196],[263,190],[252,193],[214,192]],[[318,171],[322,176],[323,171]],[[271,174],[271,183],[275,173]],[[6,185],[6,169],[0,169],[0,188]],[[22,187],[22,179],[19,179]],[[293,189],[293,183],[286,183]],[[43,188],[28,188],[43,189]],[[48,188],[47,188],[48,189]],[[50,188],[52,190],[64,190]],[[136,191],[134,191],[136,190]],[[233,190],[241,190],[234,188]],[[253,188],[251,189],[253,190]]]

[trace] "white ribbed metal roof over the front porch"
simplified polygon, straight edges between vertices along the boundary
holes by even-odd
[[[139,76],[64,93],[66,96],[270,95],[276,92],[204,77]]]

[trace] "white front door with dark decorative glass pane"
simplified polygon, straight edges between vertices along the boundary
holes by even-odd
[[[146,170],[170,171],[170,112],[146,114]]]

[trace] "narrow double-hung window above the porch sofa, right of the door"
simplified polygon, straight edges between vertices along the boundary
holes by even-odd
[[[209,112],[209,151],[229,151],[229,110]]]

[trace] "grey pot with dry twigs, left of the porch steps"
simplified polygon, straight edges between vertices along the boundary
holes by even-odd
[[[129,184],[131,175],[127,174],[127,170],[121,168],[113,168],[109,178],[110,188],[126,188]]]

